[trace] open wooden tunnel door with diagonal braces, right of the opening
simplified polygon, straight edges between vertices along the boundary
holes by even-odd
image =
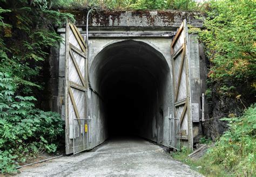
[[[187,25],[186,20],[179,27],[176,36],[172,40],[171,55],[174,86],[174,117],[171,120],[174,131],[174,148],[180,149],[181,142],[187,141],[192,145],[192,123],[190,115],[190,86],[187,54]]]

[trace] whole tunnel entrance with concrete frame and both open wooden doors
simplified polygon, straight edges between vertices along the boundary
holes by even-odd
[[[191,41],[186,20],[172,39],[136,34],[134,40],[124,40],[130,34],[121,34],[95,34],[85,41],[75,25],[66,25],[65,52],[60,47],[65,59],[59,56],[59,72],[65,71],[59,93],[64,96],[58,97],[60,103],[64,98],[66,154],[122,135],[192,150],[200,136],[198,39]]]

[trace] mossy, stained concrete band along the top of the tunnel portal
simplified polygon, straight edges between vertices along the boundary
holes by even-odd
[[[76,26],[86,26],[87,10],[84,11],[64,11],[75,15]],[[143,27],[143,29],[152,29],[160,27],[161,29],[173,29],[176,31],[184,19],[187,23],[196,27],[201,27],[204,16],[199,12],[182,12],[174,10],[165,11],[95,11],[91,13],[89,26],[91,27],[118,27],[123,26],[126,29]],[[125,30],[125,29],[124,29]]]

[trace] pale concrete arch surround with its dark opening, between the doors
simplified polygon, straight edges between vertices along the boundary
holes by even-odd
[[[92,119],[101,118],[92,127],[92,139],[102,143],[109,133],[131,133],[168,144],[169,118],[172,112],[170,39],[91,40],[90,82],[102,99],[89,91]],[[106,100],[104,100],[104,98]],[[107,101],[107,108],[104,103]],[[111,111],[109,117],[104,109]],[[105,117],[107,116],[107,117]],[[106,123],[105,123],[106,122]],[[92,122],[93,123],[93,122]],[[166,129],[166,131],[164,131]],[[115,130],[115,131],[113,131]],[[102,132],[103,131],[103,132]],[[98,138],[99,137],[99,138]]]

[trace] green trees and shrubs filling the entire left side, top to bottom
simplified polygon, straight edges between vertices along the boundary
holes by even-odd
[[[32,92],[43,88],[39,75],[49,48],[62,41],[56,33],[70,14],[52,10],[50,0],[0,1],[0,170],[41,152],[56,152],[64,134],[55,112],[35,108]]]

